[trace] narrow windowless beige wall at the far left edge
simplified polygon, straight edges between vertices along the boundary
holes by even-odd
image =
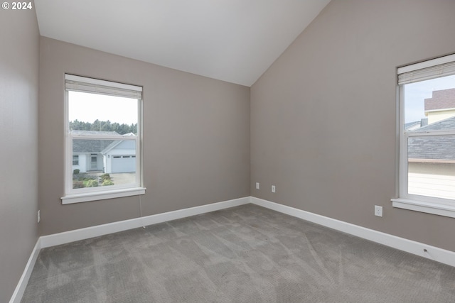
[[[38,238],[36,13],[0,11],[0,302],[9,302]]]

